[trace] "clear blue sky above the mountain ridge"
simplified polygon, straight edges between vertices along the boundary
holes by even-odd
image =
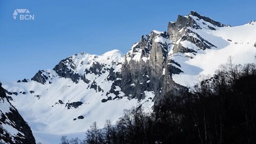
[[[190,11],[231,26],[256,20],[256,1],[0,0],[0,79],[31,78],[75,53],[123,53],[151,30]],[[29,9],[35,20],[14,20]]]

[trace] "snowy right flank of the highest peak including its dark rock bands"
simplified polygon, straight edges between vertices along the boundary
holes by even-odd
[[[235,64],[254,62],[256,53],[254,21],[237,27],[212,26],[214,28],[212,30],[208,28],[210,24],[202,19],[191,14],[188,17],[192,17],[201,28],[188,27],[187,31],[192,32],[183,35],[175,42],[177,47],[182,47],[181,50],[184,50],[183,47],[189,50],[177,52],[174,47],[173,54],[170,55],[170,59],[179,63],[180,66],[176,67],[183,71],[179,75],[172,76],[176,83],[191,87],[199,81],[200,76],[213,75],[214,71],[225,64],[229,57]],[[194,38],[184,39],[186,35]]]

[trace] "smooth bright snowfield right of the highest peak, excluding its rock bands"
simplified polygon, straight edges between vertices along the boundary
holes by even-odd
[[[220,65],[227,63],[229,57],[235,64],[255,62],[256,25],[253,23],[237,27],[221,27],[217,30],[192,28],[190,30],[195,31],[217,48],[199,50],[196,55],[188,53],[193,59],[183,57],[186,53],[171,54],[170,58],[178,62],[181,65],[179,68],[184,71],[172,76],[176,83],[193,87],[199,81],[199,77],[213,75]],[[198,49],[190,42],[185,41],[180,44]]]

